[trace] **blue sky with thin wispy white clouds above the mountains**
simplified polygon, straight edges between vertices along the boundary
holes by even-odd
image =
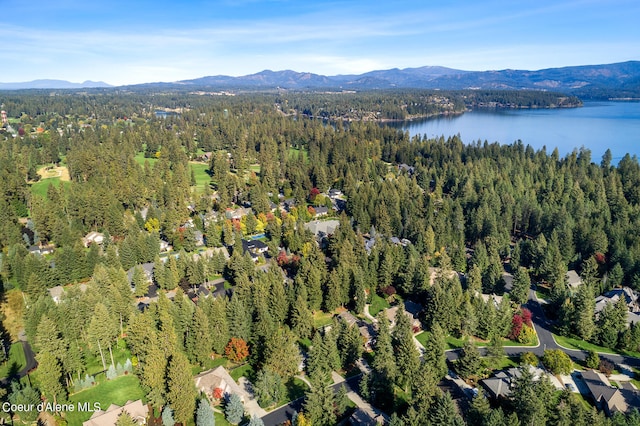
[[[637,0],[0,0],[0,82],[640,60]]]

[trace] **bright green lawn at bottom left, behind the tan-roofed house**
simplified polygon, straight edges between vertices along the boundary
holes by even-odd
[[[106,410],[111,404],[124,405],[128,400],[135,401],[141,398],[144,401],[144,396],[138,378],[134,375],[128,375],[75,393],[69,397],[69,401],[73,404],[88,402],[91,406],[94,403],[99,403],[100,408]],[[91,412],[73,411],[66,414],[69,425],[81,425],[89,417],[91,417]]]

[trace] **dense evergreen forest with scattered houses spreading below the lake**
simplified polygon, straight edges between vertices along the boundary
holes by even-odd
[[[640,290],[637,158],[613,165],[610,152],[560,157],[519,141],[410,138],[366,120],[305,117],[393,105],[380,110],[394,118],[399,105],[413,113],[407,99],[428,103],[410,93],[347,95],[3,98],[11,120],[0,133],[0,279],[5,305],[24,312],[39,362],[35,381],[13,380],[7,397],[74,400],[131,374],[145,402],[157,413],[170,407],[167,416],[184,424],[203,399],[184,371],[219,360],[247,368],[261,406],[275,407],[294,388],[303,349],[313,385],[305,416],[335,424],[349,411],[324,385],[331,371],[357,370],[364,345],[357,327],[331,317],[348,310],[364,321],[365,304],[410,300],[422,307],[424,356],[402,309],[393,326],[381,313],[361,383],[392,424],[567,424],[566,411],[572,424],[607,424],[574,395],[527,375],[499,406],[475,398],[464,420],[436,385],[447,372],[445,338],[467,339],[455,368],[475,383],[496,363],[470,342],[488,342],[495,359],[504,358],[503,342],[533,343],[521,307],[531,282],[547,290],[558,333],[638,351],[640,328],[627,328],[613,307],[599,317],[592,308],[615,286]],[[489,99],[511,102],[475,97]],[[464,108],[461,98],[450,101]],[[165,108],[179,113],[155,117]],[[68,178],[47,178],[46,167]],[[343,193],[341,203],[330,189]],[[240,206],[247,210],[236,217]],[[321,207],[339,226],[318,244],[305,224]],[[104,241],[83,242],[91,231]],[[243,249],[252,235],[268,248],[258,267]],[[33,250],[49,245],[53,253]],[[138,309],[149,283],[136,265],[150,263],[160,296]],[[569,269],[585,282],[578,292],[566,285]],[[510,297],[486,302],[481,293],[504,292],[505,271],[514,276]],[[194,297],[194,288],[219,279],[232,290]],[[49,289],[58,285],[66,287],[56,303]],[[16,337],[6,325],[15,319],[3,319],[4,348]]]

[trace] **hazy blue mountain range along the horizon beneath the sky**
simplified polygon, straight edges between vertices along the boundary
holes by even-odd
[[[86,81],[81,84],[62,80],[36,80],[29,83],[0,83],[1,89],[56,88],[74,89],[111,87],[103,82]],[[208,76],[192,80],[166,83],[146,83],[125,86],[127,89],[294,89],[294,90],[371,90],[371,89],[500,89],[552,90],[577,95],[640,96],[640,61],[615,64],[548,68],[537,71],[499,70],[464,71],[452,68],[425,66],[393,68],[358,75],[325,76],[291,70],[265,70],[241,77]]]

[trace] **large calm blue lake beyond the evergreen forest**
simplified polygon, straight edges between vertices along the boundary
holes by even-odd
[[[584,146],[599,163],[611,150],[617,163],[626,153],[640,157],[640,102],[585,102],[580,108],[479,109],[458,116],[391,123],[413,135],[445,137],[460,134],[462,141],[510,144],[520,139],[538,150],[546,146],[561,156]]]

